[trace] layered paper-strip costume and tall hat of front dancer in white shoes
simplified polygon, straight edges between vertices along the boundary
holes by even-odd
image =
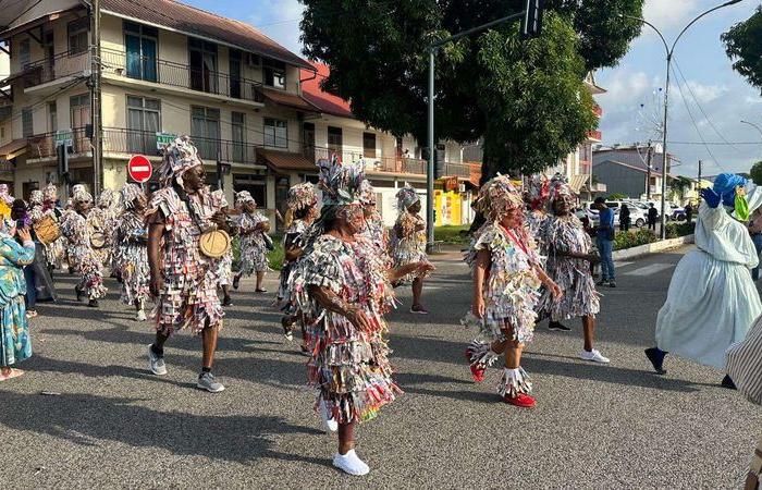
[[[349,206],[358,203],[362,168],[321,161],[322,217],[361,212]],[[321,224],[316,223],[317,228]],[[386,265],[358,237],[344,242],[330,234],[308,244],[297,262],[293,295],[305,315],[310,384],[319,390],[318,402],[339,424],[370,420],[402,391],[392,380],[388,332],[383,315],[394,303]],[[320,306],[309,294],[310,286],[329,289],[343,302],[361,308],[370,330],[360,330],[339,314]],[[317,406],[316,404],[316,406]]]

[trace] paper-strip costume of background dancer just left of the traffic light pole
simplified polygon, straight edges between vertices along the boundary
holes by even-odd
[[[429,261],[426,256],[426,222],[420,215],[408,211],[410,206],[419,201],[420,197],[409,184],[397,192],[400,217],[394,224],[391,243],[394,267]],[[409,273],[398,284],[410,283],[417,277],[417,273]]]

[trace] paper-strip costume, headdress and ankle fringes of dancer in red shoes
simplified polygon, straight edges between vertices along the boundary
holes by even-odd
[[[470,363],[490,366],[497,359],[490,348],[491,343],[512,340],[526,344],[534,336],[541,285],[534,267],[540,264],[540,255],[525,228],[507,230],[500,224],[508,210],[524,208],[520,194],[507,176],[497,176],[484,184],[477,206],[487,222],[475,233],[465,260],[475,271],[479,252],[490,253],[490,268],[482,290],[486,311],[481,319],[469,313],[463,323],[479,328],[477,339],[469,345]],[[508,329],[511,338],[506,338]],[[530,393],[531,388],[524,368],[505,368],[497,393],[517,396]]]

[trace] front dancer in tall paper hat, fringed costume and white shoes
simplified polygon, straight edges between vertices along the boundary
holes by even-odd
[[[359,203],[362,168],[321,160],[324,233],[307,244],[292,274],[293,294],[305,314],[311,358],[309,381],[318,388],[316,407],[337,424],[339,452],[333,465],[351,475],[370,469],[354,451],[357,422],[370,420],[401,390],[392,380],[383,315],[392,307],[390,284],[401,275],[423,273],[429,262],[390,270],[362,243]],[[331,425],[329,425],[330,427]]]

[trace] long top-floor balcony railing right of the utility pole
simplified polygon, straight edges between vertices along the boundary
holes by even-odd
[[[234,99],[262,101],[257,91],[262,83],[254,79],[111,49],[101,49],[101,59],[103,73]]]

